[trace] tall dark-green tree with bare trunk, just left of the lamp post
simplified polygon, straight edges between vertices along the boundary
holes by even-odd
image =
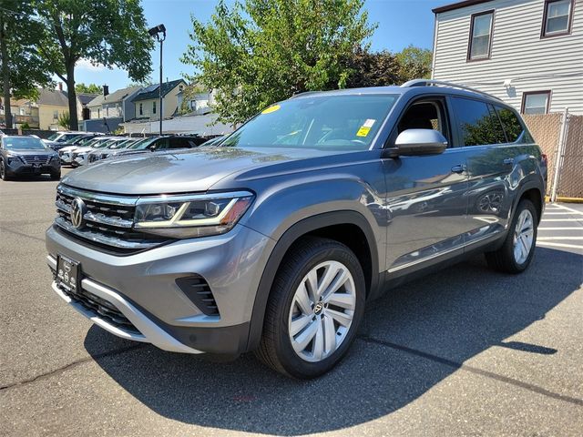
[[[77,61],[124,68],[132,80],[142,80],[151,71],[154,41],[139,0],[35,0],[35,5],[43,23],[36,51],[66,82],[71,129],[78,127]]]

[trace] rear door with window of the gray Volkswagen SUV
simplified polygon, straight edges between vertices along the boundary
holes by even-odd
[[[466,219],[469,229],[465,244],[469,249],[506,227],[512,203],[509,176],[514,168],[516,147],[506,140],[504,127],[493,105],[469,97],[452,97],[451,101],[467,166]]]

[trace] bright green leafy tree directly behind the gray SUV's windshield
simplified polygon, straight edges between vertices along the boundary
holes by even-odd
[[[374,25],[364,0],[220,1],[208,24],[192,17],[181,60],[189,82],[217,90],[219,121],[240,123],[302,91],[346,85],[345,57],[366,48]]]

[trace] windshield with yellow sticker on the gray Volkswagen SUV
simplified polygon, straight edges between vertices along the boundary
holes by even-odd
[[[220,145],[366,150],[395,95],[298,97],[265,109]]]

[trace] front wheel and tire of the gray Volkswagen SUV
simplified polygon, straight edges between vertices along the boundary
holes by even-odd
[[[299,240],[273,282],[256,355],[298,379],[330,371],[354,340],[365,292],[363,269],[351,249],[332,239]]]

